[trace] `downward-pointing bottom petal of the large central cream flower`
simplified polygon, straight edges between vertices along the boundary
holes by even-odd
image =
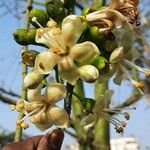
[[[79,77],[79,71],[71,57],[63,57],[58,62],[58,72],[62,79],[74,85]]]

